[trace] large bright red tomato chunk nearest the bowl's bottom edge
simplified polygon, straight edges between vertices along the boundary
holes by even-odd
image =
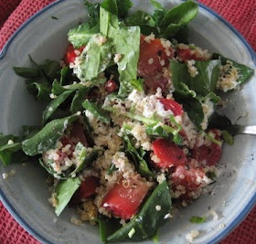
[[[104,197],[101,206],[117,217],[131,218],[137,213],[150,186],[138,177],[122,179]]]

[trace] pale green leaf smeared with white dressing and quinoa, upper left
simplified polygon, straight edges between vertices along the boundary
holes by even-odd
[[[80,66],[74,68],[74,73],[81,81],[95,79],[110,64],[112,58],[112,44],[109,40],[101,41],[101,34],[91,37],[80,56]],[[85,56],[85,57],[84,57]]]

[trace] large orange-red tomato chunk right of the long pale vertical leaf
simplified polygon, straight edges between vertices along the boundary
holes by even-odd
[[[169,58],[173,57],[173,48],[165,49],[159,38],[150,42],[141,35],[140,58],[138,61],[138,76],[149,77],[160,72],[169,65]]]

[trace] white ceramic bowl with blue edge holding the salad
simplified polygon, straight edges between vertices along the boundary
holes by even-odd
[[[133,9],[152,12],[149,1],[133,1]],[[180,1],[160,1],[166,7]],[[52,16],[58,17],[53,19]],[[40,105],[27,93],[23,79],[16,76],[13,66],[29,66],[28,54],[36,61],[62,58],[67,47],[69,28],[86,19],[80,0],[59,0],[32,16],[19,27],[0,55],[0,132],[19,133],[23,124],[40,121]],[[199,5],[199,13],[191,24],[191,41],[210,51],[256,67],[254,51],[239,32],[212,10]],[[238,92],[229,93],[229,105],[222,112],[241,124],[256,124],[255,74]],[[180,210],[176,217],[161,228],[160,242],[186,243],[186,234],[197,229],[195,243],[215,243],[223,239],[249,213],[256,200],[256,137],[238,135],[233,146],[224,145],[219,162],[220,175],[213,187],[214,195],[201,196],[191,206]],[[1,175],[16,170],[6,180],[0,177],[1,201],[16,220],[36,239],[44,243],[100,243],[98,228],[85,224],[75,226],[66,209],[56,217],[48,204],[46,173],[39,164],[0,165]],[[224,204],[225,203],[225,204]],[[218,220],[208,207],[216,211]],[[191,216],[205,216],[207,221],[197,225]],[[144,243],[152,243],[148,240]]]

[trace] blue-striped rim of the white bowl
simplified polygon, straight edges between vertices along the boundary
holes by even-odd
[[[45,7],[43,7],[41,10],[39,10],[36,14],[34,14],[33,16],[30,16],[20,27],[18,27],[15,31],[15,33],[6,41],[4,47],[2,48],[1,52],[0,52],[0,61],[1,59],[5,58],[5,55],[7,53],[7,50],[9,48],[9,46],[11,45],[11,43],[13,42],[13,40],[16,38],[16,36],[25,28],[27,27],[34,19],[36,19],[38,16],[41,16],[43,13],[45,13],[46,11],[48,11],[48,9],[52,8],[55,5],[59,5],[62,2],[65,2],[67,0],[57,0]],[[182,0],[184,1],[184,0]],[[212,10],[211,8],[209,8],[206,5],[203,5],[201,3],[197,3],[197,5],[203,9],[205,9],[208,14],[215,16],[219,19],[220,22],[222,22],[225,27],[229,28],[229,30],[231,32],[233,32],[235,34],[236,37],[238,37],[240,39],[240,41],[243,43],[243,45],[245,46],[245,48],[247,48],[247,50],[250,52],[251,54],[251,59],[254,63],[254,65],[256,66],[256,53],[253,50],[253,48],[251,48],[250,44],[248,43],[248,41],[245,39],[245,37],[243,37],[240,32],[233,27],[229,21],[227,21],[226,19],[224,19],[222,16],[219,16],[219,14],[217,12],[215,12],[214,10]],[[12,215],[12,217],[14,217],[16,219],[16,221],[27,230],[27,232],[32,235],[35,239],[41,241],[42,243],[50,243],[48,241],[48,239],[45,239],[43,236],[41,236],[40,233],[37,232],[37,230],[35,230],[33,227],[29,226],[29,224],[27,224],[27,221],[21,217],[19,215],[19,213],[16,211],[15,207],[12,206],[12,204],[9,202],[7,196],[5,196],[4,192],[2,191],[2,189],[0,188],[0,200],[2,201],[2,203],[4,204],[5,208],[8,210],[8,212]],[[227,237],[229,235],[229,233],[234,229],[237,228],[240,224],[240,222],[247,217],[247,215],[250,213],[252,207],[254,207],[254,205],[256,204],[256,193],[254,194],[254,196],[251,197],[251,200],[247,203],[247,205],[243,208],[243,210],[240,212],[240,214],[234,218],[234,220],[230,223],[229,227],[225,228],[222,232],[219,233],[219,235],[217,237],[215,237],[214,239],[209,240],[208,243],[218,243],[220,240],[224,239],[225,237]]]

